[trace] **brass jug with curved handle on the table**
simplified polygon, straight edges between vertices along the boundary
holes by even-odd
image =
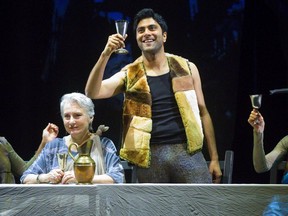
[[[95,174],[95,161],[90,157],[92,140],[78,145],[71,143],[68,148],[68,154],[74,160],[74,174],[78,184],[92,184]],[[75,146],[78,151],[78,157],[75,158],[71,153],[72,146]]]

